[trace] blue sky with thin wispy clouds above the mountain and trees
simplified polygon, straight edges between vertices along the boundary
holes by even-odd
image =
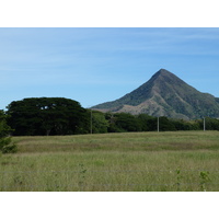
[[[131,92],[164,68],[219,97],[219,28],[0,28],[0,108],[61,96],[83,107]]]

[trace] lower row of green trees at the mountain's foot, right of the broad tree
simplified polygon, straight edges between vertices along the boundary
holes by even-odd
[[[102,124],[105,128],[95,126],[94,132],[126,132],[126,131],[177,131],[177,130],[203,130],[204,119],[183,120],[168,118],[165,116],[153,117],[147,114],[130,115],[127,113],[100,113],[94,116],[102,116]],[[96,120],[94,117],[93,120]],[[104,122],[104,123],[103,123]],[[100,124],[100,123],[99,123]],[[219,130],[219,120],[206,117],[206,130]]]

